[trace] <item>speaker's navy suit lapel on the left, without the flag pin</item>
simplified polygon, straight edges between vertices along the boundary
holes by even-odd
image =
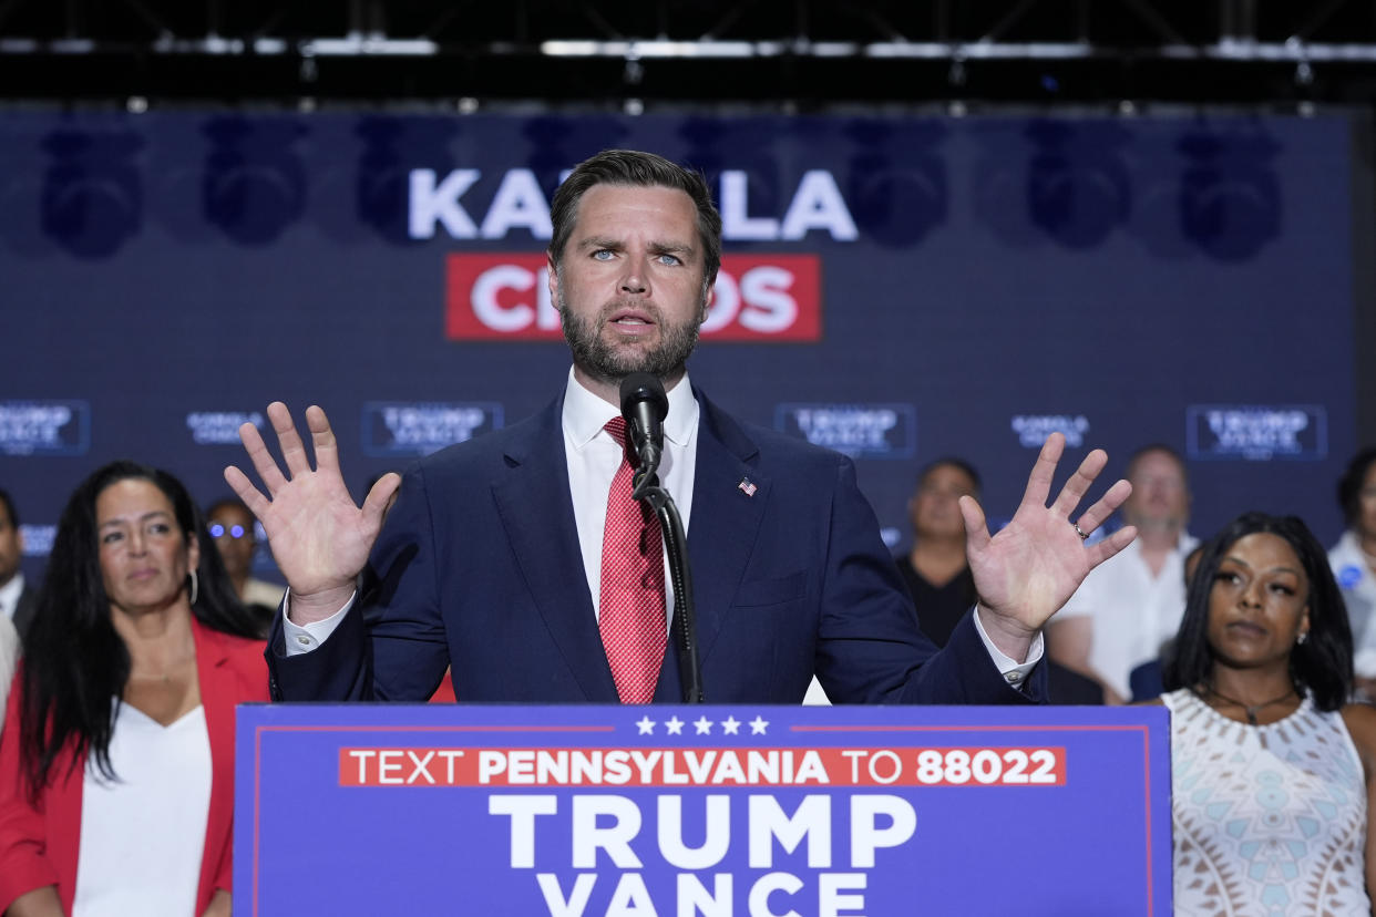
[[[585,700],[616,703],[578,544],[561,411],[560,397],[510,443],[493,496],[526,587]]]

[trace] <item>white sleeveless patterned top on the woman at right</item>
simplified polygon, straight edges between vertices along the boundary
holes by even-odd
[[[1227,719],[1193,692],[1171,711],[1175,913],[1369,914],[1366,782],[1342,714],[1306,697],[1269,726]]]

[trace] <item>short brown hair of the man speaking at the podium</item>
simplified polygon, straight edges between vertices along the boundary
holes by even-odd
[[[559,268],[564,247],[578,221],[578,203],[589,188],[599,184],[618,184],[644,188],[676,188],[692,198],[698,208],[698,236],[702,242],[703,285],[710,287],[721,267],[721,214],[711,202],[707,180],[700,172],[685,169],[654,153],[636,150],[603,150],[583,159],[555,191],[549,208],[553,236],[549,241],[549,260]]]

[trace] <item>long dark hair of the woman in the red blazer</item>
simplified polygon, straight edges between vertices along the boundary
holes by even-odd
[[[117,708],[110,701],[124,694],[129,650],[110,620],[95,502],[105,488],[129,478],[146,480],[162,491],[187,543],[191,538],[200,543],[198,595],[191,605],[197,620],[227,634],[256,635],[253,619],[239,604],[201,511],[182,483],[129,461],[98,469],[62,510],[37,613],[23,642],[19,751],[32,797],[54,777],[54,763],[69,745],[73,767],[85,755],[102,775],[114,778],[110,734]]]

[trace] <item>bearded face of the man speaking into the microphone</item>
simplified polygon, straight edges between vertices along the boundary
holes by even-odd
[[[677,381],[707,313],[692,198],[676,188],[597,184],[578,203],[561,263],[549,267],[574,371],[618,382]]]

